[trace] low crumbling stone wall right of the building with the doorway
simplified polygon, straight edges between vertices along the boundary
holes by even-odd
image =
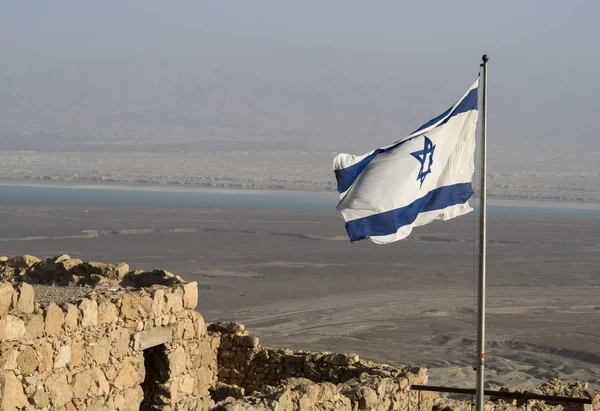
[[[411,384],[427,383],[425,368],[375,364],[352,353],[261,347],[258,338],[236,323],[208,329],[220,334],[214,397],[221,402],[214,410],[393,411],[433,405],[433,394],[419,398],[410,391]]]

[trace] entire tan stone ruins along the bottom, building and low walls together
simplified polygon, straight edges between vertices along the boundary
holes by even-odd
[[[471,409],[411,391],[427,383],[425,368],[261,347],[241,324],[207,326],[197,302],[196,283],[162,270],[0,257],[0,411]],[[591,396],[585,388],[560,383],[544,393]]]

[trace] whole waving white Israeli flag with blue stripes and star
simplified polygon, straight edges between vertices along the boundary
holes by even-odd
[[[362,156],[334,158],[337,209],[352,242],[391,243],[413,227],[472,210],[478,85],[408,137]]]

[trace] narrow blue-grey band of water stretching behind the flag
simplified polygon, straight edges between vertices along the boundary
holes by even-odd
[[[336,193],[0,185],[0,204],[333,212]],[[475,201],[476,202],[476,201]],[[600,218],[600,205],[490,200],[490,216]]]

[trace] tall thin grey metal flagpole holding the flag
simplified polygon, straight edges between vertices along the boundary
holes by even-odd
[[[479,189],[479,293],[477,302],[477,353],[479,363],[477,365],[477,385],[475,387],[476,410],[483,411],[484,394],[484,370],[485,370],[485,253],[486,253],[486,137],[487,137],[487,62],[488,56],[484,54],[481,59],[483,63],[483,85],[482,85],[482,107],[481,107],[481,184]]]

